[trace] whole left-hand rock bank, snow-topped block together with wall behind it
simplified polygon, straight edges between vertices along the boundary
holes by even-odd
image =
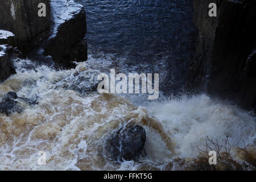
[[[22,52],[18,51],[16,56],[41,62],[51,57],[51,61],[64,68],[73,67],[72,61],[87,59],[85,11],[79,3],[73,0],[0,0],[0,3],[0,81],[14,73],[10,56],[14,55],[14,49]],[[46,16],[38,15],[39,3],[46,5]],[[8,39],[3,36],[7,31],[13,35]]]

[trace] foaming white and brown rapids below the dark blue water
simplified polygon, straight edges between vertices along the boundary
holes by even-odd
[[[228,136],[233,143],[241,138],[241,147],[255,146],[253,114],[204,94],[147,102],[138,101],[141,95],[81,93],[76,90],[95,84],[97,73],[112,65],[89,58],[76,69],[55,71],[46,66],[27,70],[25,63],[32,64],[16,61],[17,73],[0,84],[0,97],[14,91],[19,97],[38,98],[39,104],[19,101],[22,113],[0,114],[1,170],[167,169],[172,159],[196,158],[206,135]],[[146,129],[147,156],[117,164],[102,156],[102,144],[127,122]],[[46,165],[38,164],[39,151],[46,152]]]

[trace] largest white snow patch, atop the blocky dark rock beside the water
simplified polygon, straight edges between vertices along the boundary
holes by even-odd
[[[73,0],[51,0],[51,14],[53,16],[54,26],[50,37],[54,38],[57,34],[57,28],[61,23],[71,19],[73,15],[78,14],[83,6]]]

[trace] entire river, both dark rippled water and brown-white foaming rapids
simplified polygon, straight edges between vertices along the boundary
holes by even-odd
[[[88,61],[56,71],[18,59],[17,73],[0,84],[0,100],[9,91],[38,100],[38,105],[27,105],[18,99],[21,113],[0,114],[1,170],[184,169],[177,159],[199,158],[198,147],[207,136],[228,137],[254,150],[252,112],[205,94],[166,97],[184,85],[193,55],[191,1],[80,2],[88,23]],[[160,73],[160,98],[93,91],[97,75],[110,68]],[[104,144],[124,123],[144,127],[147,155],[115,163],[104,157]],[[232,156],[242,163],[236,147]],[[39,151],[46,152],[46,165],[38,164]]]

